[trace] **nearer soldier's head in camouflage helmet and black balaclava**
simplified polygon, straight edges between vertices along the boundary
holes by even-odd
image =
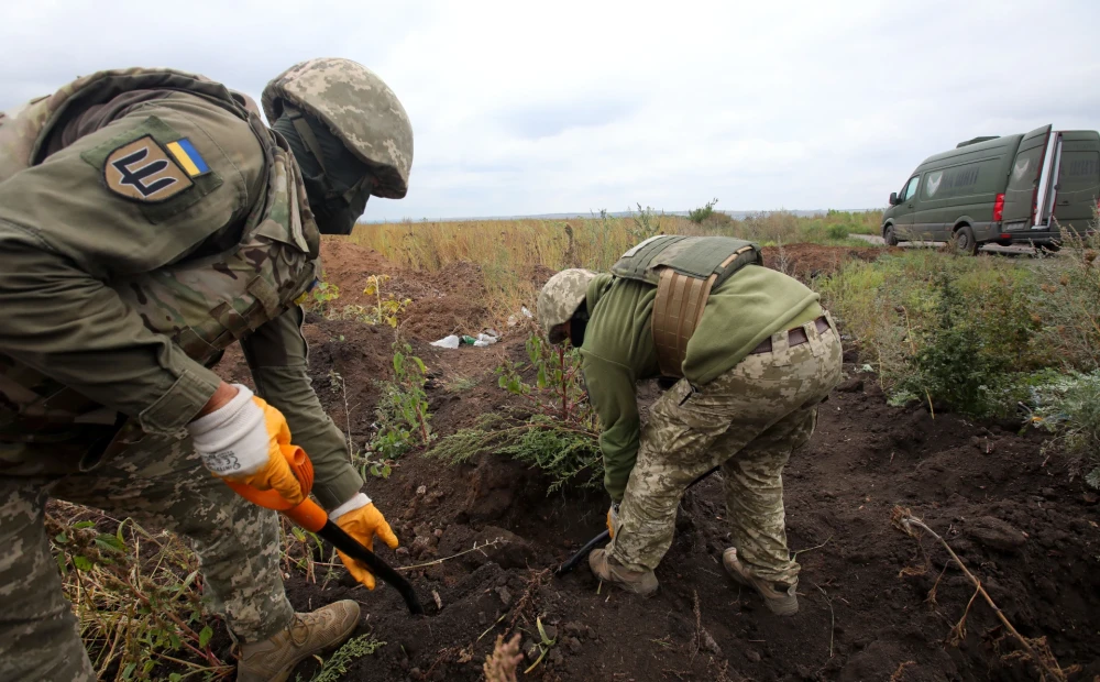
[[[400,199],[413,127],[394,91],[350,59],[309,59],[264,88],[264,113],[294,152],[317,226],[346,234],[374,195]]]

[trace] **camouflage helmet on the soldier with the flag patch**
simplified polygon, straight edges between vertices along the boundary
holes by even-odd
[[[413,127],[405,108],[382,78],[351,59],[295,64],[276,76],[261,97],[268,123],[283,116],[284,100],[320,119],[351,152],[371,166],[371,194],[400,199],[413,166]]]

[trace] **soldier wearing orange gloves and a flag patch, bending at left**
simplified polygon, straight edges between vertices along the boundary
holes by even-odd
[[[0,679],[95,679],[43,527],[51,497],[189,539],[240,680],[285,680],[360,613],[294,613],[276,514],[221,479],[300,501],[279,454],[293,438],[330,518],[397,544],[310,386],[296,301],[320,233],[348,233],[371,195],[405,196],[413,131],[345,59],[292,67],[263,106],[272,129],[220,84],[134,68],[0,116]],[[238,341],[263,398],[211,371]]]

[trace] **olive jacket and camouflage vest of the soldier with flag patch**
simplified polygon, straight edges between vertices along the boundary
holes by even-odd
[[[240,340],[322,504],[358,492],[306,373],[293,301],[319,235],[284,145],[242,96],[169,70],[103,72],[0,118],[0,468],[117,415],[180,433]]]

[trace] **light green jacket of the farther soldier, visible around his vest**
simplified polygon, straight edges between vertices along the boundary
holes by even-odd
[[[636,384],[660,375],[651,318],[657,287],[600,275],[588,285],[581,369],[603,431],[604,487],[623,499],[638,457]],[[684,378],[696,387],[732,370],[761,341],[822,315],[818,296],[782,273],[749,265],[711,293],[688,343]]]

